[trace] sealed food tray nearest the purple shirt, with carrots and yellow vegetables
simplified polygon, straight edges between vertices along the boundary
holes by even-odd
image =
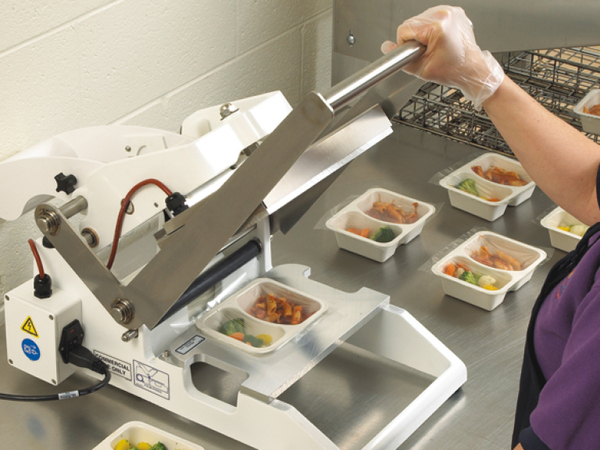
[[[442,280],[444,292],[491,311],[531,279],[546,252],[500,234],[481,231],[432,268]]]

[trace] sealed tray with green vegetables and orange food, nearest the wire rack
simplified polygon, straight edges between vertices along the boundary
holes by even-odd
[[[507,206],[518,206],[533,194],[535,183],[521,164],[506,156],[485,153],[440,180],[452,206],[482,219],[501,217]]]

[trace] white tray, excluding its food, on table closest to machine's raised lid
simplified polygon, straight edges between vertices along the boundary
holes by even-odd
[[[366,211],[371,208],[375,201],[393,202],[394,205],[400,206],[407,211],[412,209],[413,203],[416,202],[418,203],[418,219],[411,224],[396,224],[370,217],[366,214]],[[427,218],[434,212],[435,207],[429,203],[424,203],[414,198],[388,191],[387,189],[373,188],[369,189],[330,218],[326,226],[335,232],[335,237],[340,248],[378,262],[384,262],[392,257],[399,245],[407,244],[417,237],[421,233]],[[376,242],[346,231],[348,228],[369,228],[376,231],[384,226],[389,226],[396,234],[396,237],[390,242]]]

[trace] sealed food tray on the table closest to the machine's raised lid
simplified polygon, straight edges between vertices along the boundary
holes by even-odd
[[[435,207],[387,189],[369,189],[331,217],[326,226],[340,248],[378,262],[421,233]]]

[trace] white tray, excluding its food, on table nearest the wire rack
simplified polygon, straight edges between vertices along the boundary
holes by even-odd
[[[527,181],[527,184],[524,186],[506,186],[495,183],[477,175],[471,169],[473,166],[481,166],[484,172],[492,166],[516,172],[521,179]],[[476,197],[473,194],[456,188],[456,185],[467,178],[475,181],[475,186],[480,194],[487,198],[498,199],[498,201]],[[442,178],[440,185],[448,189],[448,196],[450,197],[452,206],[490,222],[501,217],[504,211],[506,211],[507,206],[518,206],[523,203],[531,197],[535,189],[535,183],[518,161],[496,153],[485,153],[475,158]]]

